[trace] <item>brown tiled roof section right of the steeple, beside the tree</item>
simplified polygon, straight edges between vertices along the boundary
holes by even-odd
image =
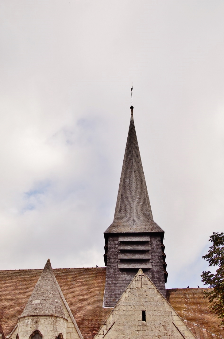
[[[224,338],[224,330],[219,327],[220,319],[216,315],[209,313],[209,302],[207,299],[203,299],[204,290],[205,288],[172,288],[166,290],[166,295],[167,300],[179,316],[188,320],[185,323],[196,338],[217,338],[207,331]]]

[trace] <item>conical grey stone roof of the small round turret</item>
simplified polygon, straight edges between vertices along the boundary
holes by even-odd
[[[21,317],[49,315],[65,318],[61,298],[57,287],[50,259],[38,279]]]

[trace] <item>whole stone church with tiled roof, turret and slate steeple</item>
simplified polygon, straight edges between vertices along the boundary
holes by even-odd
[[[224,339],[205,288],[165,287],[133,108],[105,267],[0,271],[0,339]]]

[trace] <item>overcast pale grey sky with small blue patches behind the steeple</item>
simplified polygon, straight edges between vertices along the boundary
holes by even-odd
[[[104,266],[130,120],[167,288],[224,225],[223,0],[0,1],[0,269]]]

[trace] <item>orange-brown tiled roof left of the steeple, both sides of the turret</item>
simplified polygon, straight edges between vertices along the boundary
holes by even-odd
[[[106,268],[59,268],[54,275],[85,339],[92,339],[110,313],[102,308]],[[0,322],[9,335],[42,270],[0,271]]]

